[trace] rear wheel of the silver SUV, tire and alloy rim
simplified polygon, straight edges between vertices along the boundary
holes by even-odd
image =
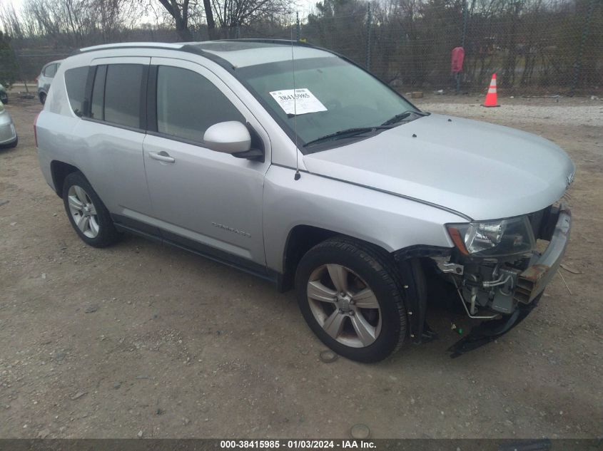
[[[119,233],[111,214],[81,172],[71,172],[63,184],[63,203],[78,236],[93,247],[117,242]]]

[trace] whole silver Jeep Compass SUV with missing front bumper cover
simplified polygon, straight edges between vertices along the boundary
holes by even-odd
[[[84,242],[133,232],[294,287],[318,338],[357,361],[434,338],[442,300],[485,320],[453,356],[506,333],[569,238],[557,145],[424,113],[302,43],[83,48],[35,130]]]

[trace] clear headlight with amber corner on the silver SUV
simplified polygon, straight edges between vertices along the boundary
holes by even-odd
[[[466,224],[446,224],[446,227],[452,242],[465,255],[525,254],[536,245],[532,225],[526,216]]]

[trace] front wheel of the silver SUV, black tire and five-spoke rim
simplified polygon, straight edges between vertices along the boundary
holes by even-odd
[[[298,265],[295,291],[308,326],[341,356],[377,362],[402,345],[402,284],[377,247],[345,237],[318,244]]]

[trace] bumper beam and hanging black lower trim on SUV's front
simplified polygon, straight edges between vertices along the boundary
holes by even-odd
[[[569,242],[572,214],[562,204],[553,214],[549,215],[549,222],[552,222],[554,227],[549,227],[549,230],[552,229],[552,234],[547,249],[542,254],[534,254],[525,270],[517,270],[515,287],[512,291],[514,306],[512,312],[496,319],[483,321],[472,328],[465,338],[448,349],[452,353],[452,357],[460,356],[462,353],[494,341],[517,326],[537,306],[544,288],[559,269],[563,259]]]

